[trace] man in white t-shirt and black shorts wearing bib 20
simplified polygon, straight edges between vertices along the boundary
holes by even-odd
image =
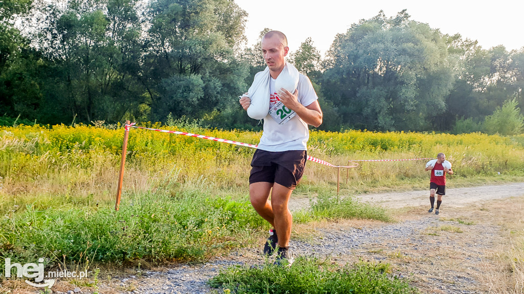
[[[293,219],[288,201],[302,177],[308,158],[308,125],[320,126],[322,110],[305,75],[300,74],[294,93],[275,88],[276,78],[285,67],[285,56],[289,51],[286,36],[280,31],[270,31],[262,38],[261,47],[270,73],[269,107],[280,101],[296,115],[285,123],[279,123],[270,114],[264,118],[264,131],[251,162],[249,198],[253,208],[273,227],[264,245],[264,254],[277,251],[276,264],[283,260],[291,263],[289,237]],[[244,96],[239,102],[247,110],[250,98]]]

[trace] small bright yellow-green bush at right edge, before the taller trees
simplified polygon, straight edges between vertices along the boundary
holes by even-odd
[[[483,128],[487,134],[515,135],[522,132],[523,121],[518,102],[512,99],[497,107],[493,115],[487,116]]]

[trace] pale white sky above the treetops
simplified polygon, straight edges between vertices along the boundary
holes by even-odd
[[[353,3],[352,3],[353,2]],[[352,24],[369,19],[380,10],[386,17],[408,9],[411,20],[429,24],[442,33],[460,33],[477,40],[483,49],[504,45],[506,50],[524,47],[523,0],[235,0],[248,13],[245,34],[253,46],[264,28],[286,34],[290,51],[311,37],[322,55],[328,51],[337,33],[345,33]]]

